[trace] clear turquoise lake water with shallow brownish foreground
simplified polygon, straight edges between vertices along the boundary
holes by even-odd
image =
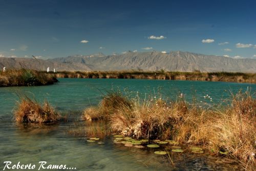
[[[128,148],[114,144],[113,137],[101,139],[104,144],[99,145],[68,132],[77,123],[87,127],[77,118],[84,108],[97,105],[107,91],[118,89],[133,95],[139,93],[143,98],[151,95],[170,100],[183,93],[187,101],[196,96],[198,101],[218,104],[228,98],[230,90],[236,93],[240,89],[246,91],[247,87],[251,93],[256,92],[256,84],[123,79],[59,79],[59,83],[50,86],[1,87],[0,169],[4,168],[4,161],[32,163],[37,169],[39,161],[47,161],[47,164],[67,164],[71,169],[66,170],[233,170],[236,165],[230,166],[207,154],[173,154],[175,166],[172,166],[166,156],[154,154],[155,149]],[[47,99],[62,115],[72,114],[72,117],[53,126],[16,124],[12,110],[18,100],[17,92],[34,95],[39,102]],[[212,102],[204,99],[206,94]]]

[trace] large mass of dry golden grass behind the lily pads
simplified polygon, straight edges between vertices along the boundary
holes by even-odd
[[[129,99],[114,92],[92,108],[94,112],[87,112],[89,108],[84,115],[103,119],[112,133],[203,145],[217,155],[227,152],[246,170],[256,166],[256,100],[249,91],[232,94],[227,106],[209,108],[188,104],[182,95],[175,102],[167,102]]]

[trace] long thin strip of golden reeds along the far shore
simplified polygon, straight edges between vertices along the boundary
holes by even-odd
[[[247,74],[242,72],[59,71],[56,73],[49,72],[49,74],[56,78],[147,79],[256,83],[256,74]]]

